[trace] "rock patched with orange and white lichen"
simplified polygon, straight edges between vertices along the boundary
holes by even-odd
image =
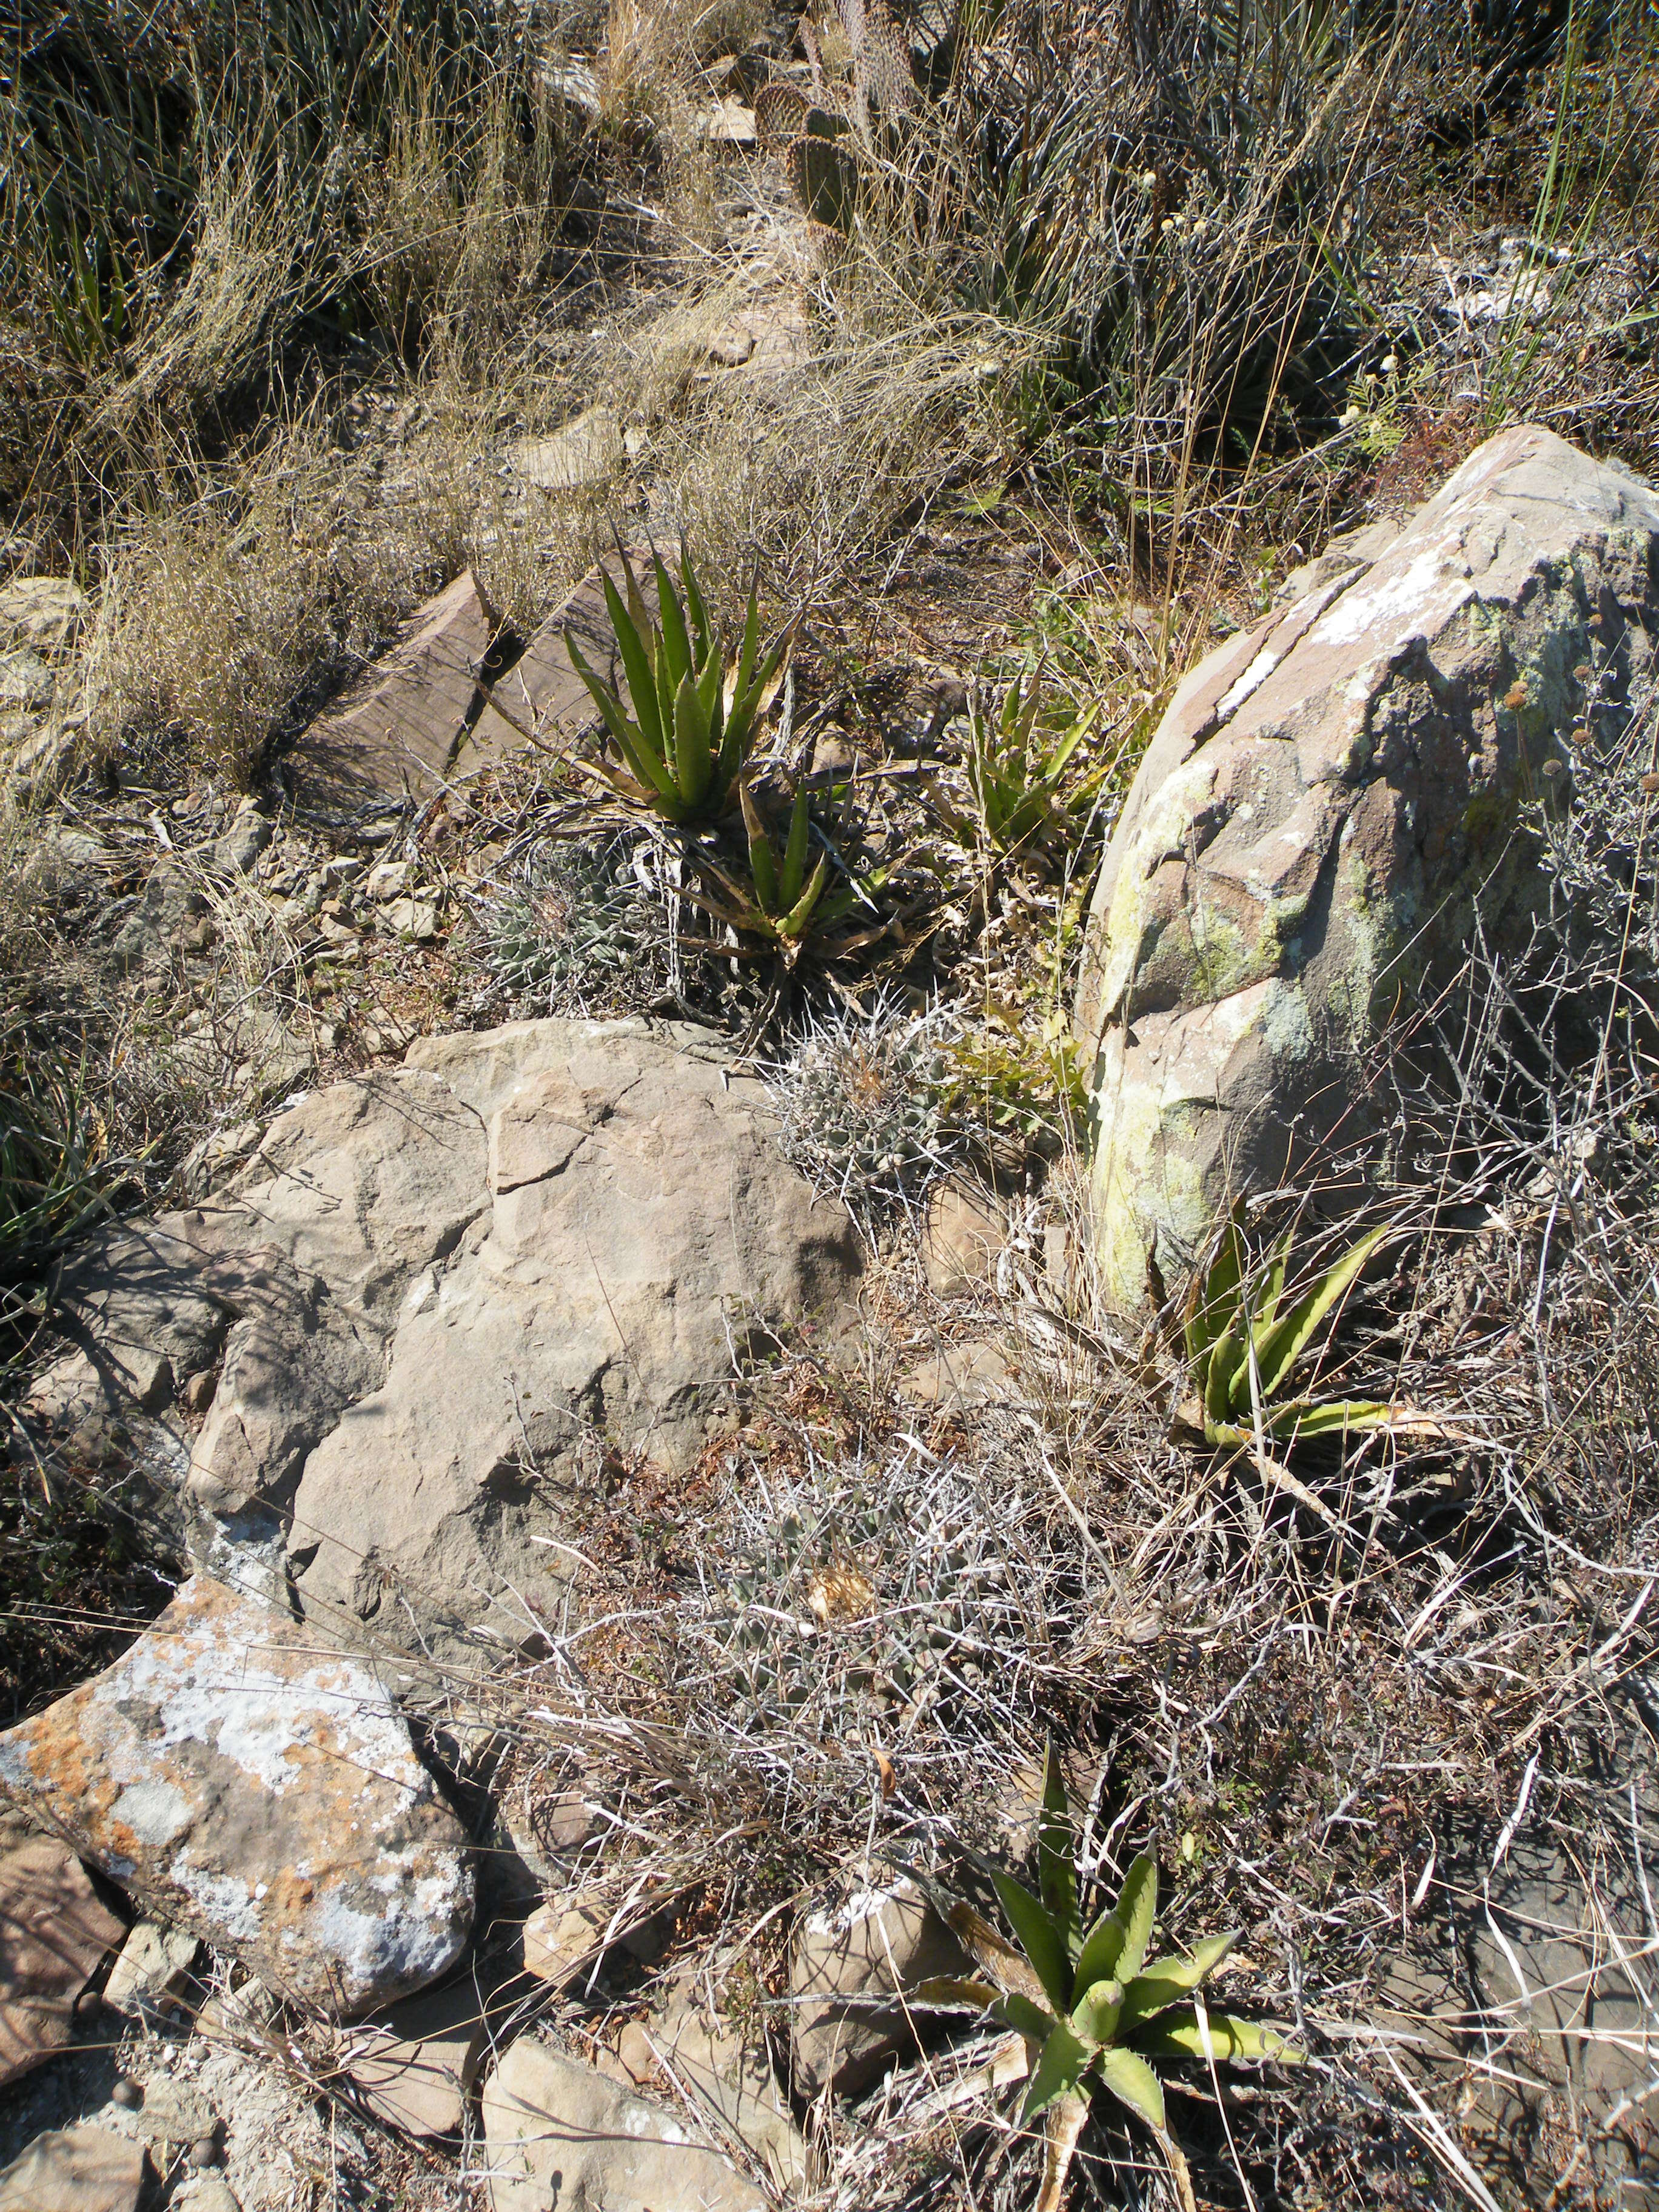
[[[0,1792],[272,1989],[361,2013],[460,1955],[473,1874],[374,1670],[206,1577],[0,1736]]]

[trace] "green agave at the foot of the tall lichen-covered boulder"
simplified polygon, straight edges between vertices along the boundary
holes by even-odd
[[[1396,1407],[1369,1398],[1281,1398],[1292,1367],[1332,1307],[1347,1296],[1367,1259],[1387,1237],[1371,1230],[1325,1267],[1301,1298],[1285,1305],[1290,1230],[1261,1272],[1245,1263],[1241,1208],[1221,1232],[1214,1256],[1192,1279],[1183,1343],[1197,1405],[1183,1409],[1210,1444],[1252,1444],[1256,1413],[1263,1436],[1294,1442],[1343,1429],[1385,1429]]]

